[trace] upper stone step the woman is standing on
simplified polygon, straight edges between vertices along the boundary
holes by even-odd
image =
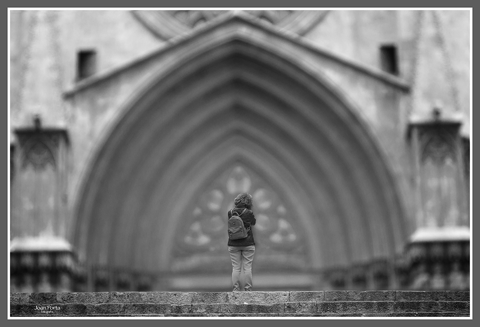
[[[470,291],[85,292],[10,293],[12,304],[470,301]]]

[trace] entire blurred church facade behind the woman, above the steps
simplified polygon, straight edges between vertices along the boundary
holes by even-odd
[[[469,10],[11,10],[10,290],[469,289]]]

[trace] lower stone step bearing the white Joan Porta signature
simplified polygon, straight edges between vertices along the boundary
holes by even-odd
[[[286,302],[275,304],[152,304],[152,303],[100,303],[57,304],[54,306],[12,304],[12,316],[38,316],[49,311],[50,316],[78,315],[151,315],[151,314],[410,314],[418,312],[467,314],[468,302],[460,301],[336,301]]]

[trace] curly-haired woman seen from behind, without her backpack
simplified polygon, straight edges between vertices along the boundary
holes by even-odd
[[[240,287],[246,292],[252,290],[252,263],[255,254],[255,241],[252,227],[257,222],[252,211],[253,198],[248,193],[240,193],[235,198],[235,207],[228,211],[228,219],[233,213],[240,216],[243,225],[247,228],[247,237],[238,240],[228,240],[228,251],[232,259],[232,290],[240,291]],[[245,210],[246,209],[246,210]],[[243,212],[243,213],[242,213]],[[243,268],[243,278],[240,276]]]

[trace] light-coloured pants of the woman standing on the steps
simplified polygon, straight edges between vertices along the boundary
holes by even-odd
[[[240,291],[240,285],[246,292],[252,290],[252,262],[255,254],[255,245],[229,246],[230,258],[232,258],[232,285],[233,291]],[[243,268],[243,278],[240,276]]]

